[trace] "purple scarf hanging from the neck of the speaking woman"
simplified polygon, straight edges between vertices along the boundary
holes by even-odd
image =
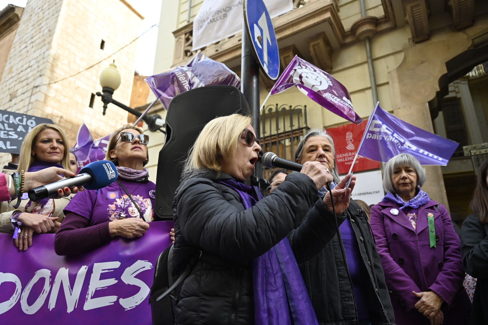
[[[232,179],[217,183],[236,191],[245,209],[263,198],[256,187]],[[287,237],[252,261],[252,280],[255,324],[319,324]]]

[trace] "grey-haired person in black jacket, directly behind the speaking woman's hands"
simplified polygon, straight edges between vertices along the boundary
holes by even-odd
[[[334,140],[326,131],[308,131],[297,146],[295,161],[299,164],[320,163],[328,168],[334,177],[330,185],[332,191],[337,188],[336,184],[341,184],[335,163]],[[319,196],[327,192],[322,187]],[[351,199],[344,213],[338,213],[337,219],[339,232],[324,242],[313,258],[300,265],[319,323],[395,324],[380,256],[366,213]],[[335,229],[336,225],[332,227]]]

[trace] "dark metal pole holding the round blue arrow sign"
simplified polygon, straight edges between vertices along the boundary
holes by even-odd
[[[261,137],[260,132],[260,105],[259,105],[259,65],[254,58],[251,44],[245,31],[245,22],[243,19],[243,36],[242,36],[242,57],[241,57],[241,92],[247,99],[251,109],[252,127],[256,135]],[[254,176],[261,177],[261,161],[256,162]]]

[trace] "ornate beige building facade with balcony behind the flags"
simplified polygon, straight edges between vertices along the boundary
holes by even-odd
[[[162,36],[160,41],[164,40],[164,54],[167,56],[168,49],[172,49],[174,55],[172,60],[160,59],[155,73],[185,64],[195,54],[192,20],[202,3],[180,0],[178,6],[166,7],[163,3],[162,21],[163,17],[173,17],[166,21],[170,23],[168,28],[173,29],[174,39]],[[298,55],[342,82],[355,111],[364,119],[371,114],[373,97],[377,96],[386,111],[454,140],[459,132],[451,130],[452,121],[446,119],[443,111],[448,111],[447,99],[459,98],[455,112],[463,118],[465,144],[488,142],[484,131],[488,130],[488,78],[482,65],[488,61],[487,1],[293,0],[293,4],[293,10],[273,19],[282,69]],[[240,74],[241,39],[242,34],[238,33],[201,50]],[[163,51],[162,47],[159,51]],[[161,55],[162,52],[157,53],[156,58]],[[473,68],[483,71],[472,75]],[[263,102],[273,82],[263,75],[260,80]],[[346,124],[296,89],[271,96],[267,104],[284,105],[283,112],[272,112],[273,116],[268,117],[279,114],[285,124],[289,122],[288,108],[305,105],[308,128]],[[274,125],[264,127],[267,135],[261,125],[262,137],[277,134]],[[153,145],[161,149],[162,144],[163,141]],[[153,159],[152,164],[155,163]],[[451,206],[451,212],[465,217],[475,185],[475,169],[471,157],[463,154],[453,157],[447,167],[426,166],[424,190],[448,209]]]

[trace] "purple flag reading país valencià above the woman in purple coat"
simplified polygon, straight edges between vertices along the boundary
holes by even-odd
[[[381,107],[373,112],[358,154],[386,162],[399,153],[410,153],[422,165],[446,166],[459,143],[419,129]]]

